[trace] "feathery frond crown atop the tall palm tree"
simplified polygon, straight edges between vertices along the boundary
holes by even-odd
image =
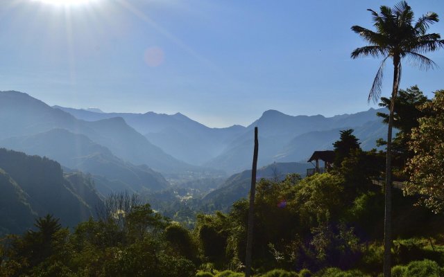
[[[416,22],[413,21],[413,11],[406,1],[400,1],[393,8],[381,6],[380,12],[368,9],[372,16],[376,31],[361,26],[352,26],[352,31],[365,39],[369,45],[356,48],[351,57],[362,56],[383,57],[382,64],[377,71],[368,99],[377,100],[382,87],[382,69],[386,60],[393,59],[395,75],[392,98],[398,92],[400,81],[400,62],[402,58],[414,60],[420,69],[429,69],[436,64],[422,53],[436,51],[444,46],[444,40],[437,33],[427,34],[430,25],[438,21],[435,12],[422,15]],[[391,104],[393,106],[393,104]]]

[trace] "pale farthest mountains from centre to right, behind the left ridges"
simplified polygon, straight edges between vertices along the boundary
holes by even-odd
[[[289,116],[268,110],[243,127],[210,128],[180,113],[167,115],[103,113],[54,106],[82,120],[119,116],[144,134],[148,141],[171,156],[198,166],[218,168],[229,174],[250,166],[253,129],[259,128],[259,166],[273,162],[306,161],[314,150],[330,150],[341,129],[355,129],[364,150],[377,148],[376,140],[386,135],[386,125],[376,116],[386,109],[368,109],[357,114]]]

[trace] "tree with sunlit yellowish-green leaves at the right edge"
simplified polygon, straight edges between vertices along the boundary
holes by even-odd
[[[404,193],[421,195],[420,201],[438,213],[444,211],[444,90],[436,91],[421,109],[432,115],[420,118],[412,129],[409,146],[415,154],[407,163],[410,180]]]

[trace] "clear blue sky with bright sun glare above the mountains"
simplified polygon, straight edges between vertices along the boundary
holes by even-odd
[[[58,2],[58,3],[57,3]],[[61,3],[64,2],[64,3]],[[372,28],[356,0],[0,0],[0,91],[49,105],[103,111],[180,112],[210,127],[249,125],[268,109],[334,116],[364,111],[380,60],[352,60],[365,46],[353,25]],[[416,18],[444,1],[408,1]],[[440,66],[403,62],[401,88],[430,98]],[[393,73],[384,71],[383,96]]]

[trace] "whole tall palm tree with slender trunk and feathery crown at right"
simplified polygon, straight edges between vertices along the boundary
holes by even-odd
[[[401,61],[405,58],[416,63],[420,69],[434,68],[436,64],[425,57],[424,53],[444,47],[444,40],[436,33],[427,34],[431,24],[438,22],[435,12],[413,19],[413,11],[406,1],[401,1],[393,8],[381,6],[380,12],[368,9],[373,16],[376,31],[361,26],[352,26],[352,30],[363,37],[368,46],[356,48],[353,59],[362,56],[382,57],[381,66],[368,94],[368,100],[377,102],[381,95],[382,73],[386,60],[393,60],[393,87],[391,92],[390,114],[388,117],[386,187],[384,214],[384,276],[391,276],[391,136],[393,126],[393,108],[401,80]]]

